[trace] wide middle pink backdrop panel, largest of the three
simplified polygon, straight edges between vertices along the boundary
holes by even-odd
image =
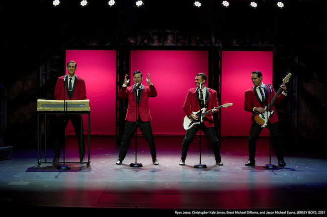
[[[130,60],[129,78],[139,70],[142,84],[148,85],[150,73],[158,93],[149,98],[153,134],[184,135],[183,104],[188,89],[195,87],[196,74],[208,73],[208,51],[131,51]]]

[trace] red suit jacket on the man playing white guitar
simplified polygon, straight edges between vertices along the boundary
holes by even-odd
[[[204,90],[204,89],[203,89]],[[218,106],[217,92],[213,89],[208,88],[209,90],[209,102],[207,110],[213,109]],[[199,101],[196,94],[197,88],[191,88],[188,90],[186,99],[183,105],[185,114],[190,117],[192,112],[197,112],[201,109]],[[208,95],[206,95],[206,98]],[[203,117],[203,123],[206,127],[214,127],[212,113],[207,114]]]

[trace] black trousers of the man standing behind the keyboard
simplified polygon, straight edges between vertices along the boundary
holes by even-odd
[[[65,121],[64,121],[65,119]],[[56,141],[54,142],[54,156],[60,156],[60,147],[63,143],[65,137],[65,129],[69,122],[71,121],[72,126],[74,127],[75,134],[77,136],[78,149],[79,149],[79,158],[84,157],[85,151],[85,141],[83,133],[83,123],[82,123],[82,140],[80,140],[80,119],[81,115],[59,115],[56,128]]]

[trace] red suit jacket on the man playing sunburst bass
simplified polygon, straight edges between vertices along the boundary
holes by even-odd
[[[245,96],[244,96],[244,110],[254,113],[253,112],[253,108],[254,107],[263,107],[263,108],[265,108],[265,106],[267,104],[269,104],[271,102],[271,99],[276,95],[276,92],[275,92],[275,90],[274,90],[273,87],[272,87],[272,89],[273,89],[273,92],[271,94],[268,93],[268,100],[266,100],[264,106],[261,106],[261,103],[256,98],[256,94],[255,94],[255,91],[254,91],[253,87],[251,87],[248,90],[246,90]],[[271,98],[270,98],[270,95],[271,95]],[[283,101],[283,99],[285,99],[285,97],[286,96],[281,93],[277,97],[277,99],[275,101],[275,104],[281,103]],[[275,109],[275,106],[274,105],[272,106],[272,109],[271,110],[272,111],[274,110],[274,113],[270,117],[271,118],[270,121],[271,121],[271,123],[275,123],[275,122],[278,121],[278,115],[277,115],[277,112],[276,112],[276,109]],[[254,122],[253,122],[252,119],[251,119],[251,123],[254,124]]]

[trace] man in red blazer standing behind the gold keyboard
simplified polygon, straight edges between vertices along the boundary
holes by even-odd
[[[67,63],[68,75],[64,75],[58,78],[57,84],[54,90],[54,98],[56,100],[82,100],[87,98],[87,91],[85,86],[85,80],[78,77],[75,74],[77,64],[75,61],[69,61]],[[80,162],[86,162],[84,155],[85,141],[83,133],[83,125],[80,126],[80,115],[59,115],[58,125],[56,128],[57,140],[54,143],[54,159],[53,162],[59,161],[60,146],[62,143],[64,129],[66,128],[69,120],[74,127],[75,134],[77,136],[78,148],[79,148],[79,159]],[[80,141],[80,128],[82,127],[82,141]]]

